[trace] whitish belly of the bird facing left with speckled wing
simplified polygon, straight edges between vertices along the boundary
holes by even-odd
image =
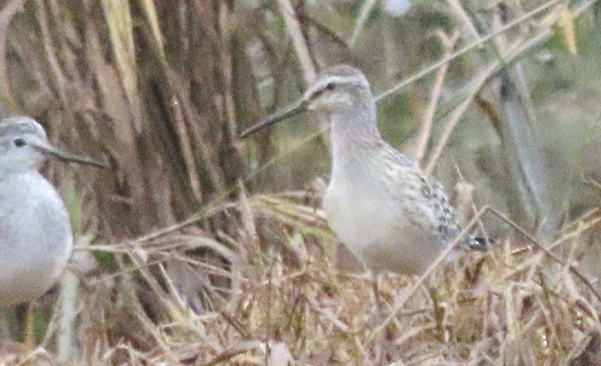
[[[323,208],[328,224],[349,250],[374,272],[416,275],[441,252],[438,234],[411,222],[402,203],[381,191],[353,185],[328,187]],[[355,197],[349,201],[348,197]]]

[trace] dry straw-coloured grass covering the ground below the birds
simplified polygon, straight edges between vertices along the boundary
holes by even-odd
[[[231,271],[213,266],[214,274],[230,276],[231,285],[207,290],[204,296],[212,294],[213,302],[204,301],[197,311],[173,285],[169,264],[153,263],[200,265],[181,255],[183,249],[225,250],[217,242],[179,230],[177,235],[103,247],[123,253],[115,254],[121,258],[120,270],[112,282],[88,281],[79,296],[80,361],[359,365],[376,364],[383,357],[383,364],[399,365],[580,365],[598,357],[600,299],[569,267],[527,242],[500,242],[489,254],[471,254],[462,263],[439,268],[432,281],[438,306],[430,284],[423,284],[382,328],[416,279],[379,276],[377,300],[371,276],[338,272],[334,251],[328,249],[335,240],[323,219],[291,197],[300,196],[264,195],[236,205],[236,212],[246,211],[239,216],[245,217],[242,226],[254,227],[250,218],[263,226],[271,222],[270,233],[279,228],[289,246],[274,241],[275,246],[261,247],[266,242],[258,239],[261,226],[254,227],[256,236],[245,230],[240,237],[246,239],[225,253]],[[567,258],[575,260],[578,243],[597,221],[594,215],[582,218],[553,250],[570,248]],[[286,252],[294,256],[293,265],[284,264]],[[197,274],[207,273],[207,261],[202,264]],[[54,364],[58,334],[52,325],[48,329],[42,346],[49,352],[38,349],[17,359]],[[5,354],[2,361],[16,364],[13,357]]]

